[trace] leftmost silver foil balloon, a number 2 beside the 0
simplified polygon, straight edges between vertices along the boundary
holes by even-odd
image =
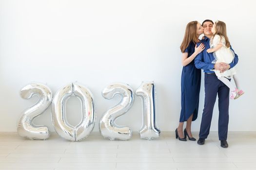
[[[52,102],[52,92],[48,86],[40,83],[31,83],[20,90],[23,99],[30,99],[34,95],[39,96],[39,101],[22,112],[17,131],[22,137],[44,140],[50,136],[48,127],[34,125],[33,120],[49,107]]]

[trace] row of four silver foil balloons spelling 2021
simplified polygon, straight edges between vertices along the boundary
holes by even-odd
[[[20,90],[23,99],[39,96],[39,101],[22,112],[17,131],[22,137],[45,140],[49,138],[49,129],[46,126],[33,124],[33,120],[40,116],[52,103],[52,122],[57,134],[70,141],[79,141],[89,136],[95,125],[95,107],[91,91],[71,83],[60,88],[53,97],[47,85],[31,83]],[[72,126],[66,120],[65,105],[71,96],[79,98],[82,104],[82,119],[77,126]],[[118,126],[115,120],[125,114],[134,101],[133,89],[124,83],[113,83],[102,90],[105,99],[121,96],[121,101],[105,112],[99,121],[99,131],[103,137],[110,140],[128,140],[132,136],[129,127]],[[142,82],[136,90],[136,95],[142,100],[142,126],[139,130],[140,138],[151,140],[158,138],[160,130],[156,125],[156,89],[154,82]]]

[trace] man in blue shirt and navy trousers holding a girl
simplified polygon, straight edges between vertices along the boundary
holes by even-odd
[[[234,61],[230,64],[212,63],[215,58],[213,56],[213,53],[207,53],[207,50],[210,49],[210,38],[213,36],[213,33],[211,31],[213,28],[213,24],[213,21],[209,19],[203,21],[202,26],[204,28],[204,39],[202,39],[200,43],[204,44],[205,49],[195,58],[196,68],[203,69],[205,73],[205,101],[197,144],[203,145],[205,143],[205,139],[209,135],[214,104],[216,102],[218,94],[218,138],[220,140],[220,146],[222,148],[227,148],[229,121],[229,88],[220,80],[218,80],[215,72],[212,71],[212,69],[217,69],[221,72],[224,72],[229,68],[233,68],[238,62],[238,56],[234,52],[235,58]],[[197,44],[197,47],[200,45],[200,43]],[[233,51],[231,47],[230,49]]]

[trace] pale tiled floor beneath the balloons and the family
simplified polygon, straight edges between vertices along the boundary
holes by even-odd
[[[205,145],[175,139],[110,141],[92,133],[80,142],[54,134],[45,141],[0,133],[0,170],[256,170],[256,132],[230,132],[221,148],[217,132]],[[193,133],[198,138],[198,133]]]

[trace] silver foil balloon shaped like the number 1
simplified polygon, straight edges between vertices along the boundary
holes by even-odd
[[[159,137],[160,130],[156,125],[156,90],[154,82],[142,82],[136,90],[136,95],[142,100],[142,126],[140,138],[151,140]]]

